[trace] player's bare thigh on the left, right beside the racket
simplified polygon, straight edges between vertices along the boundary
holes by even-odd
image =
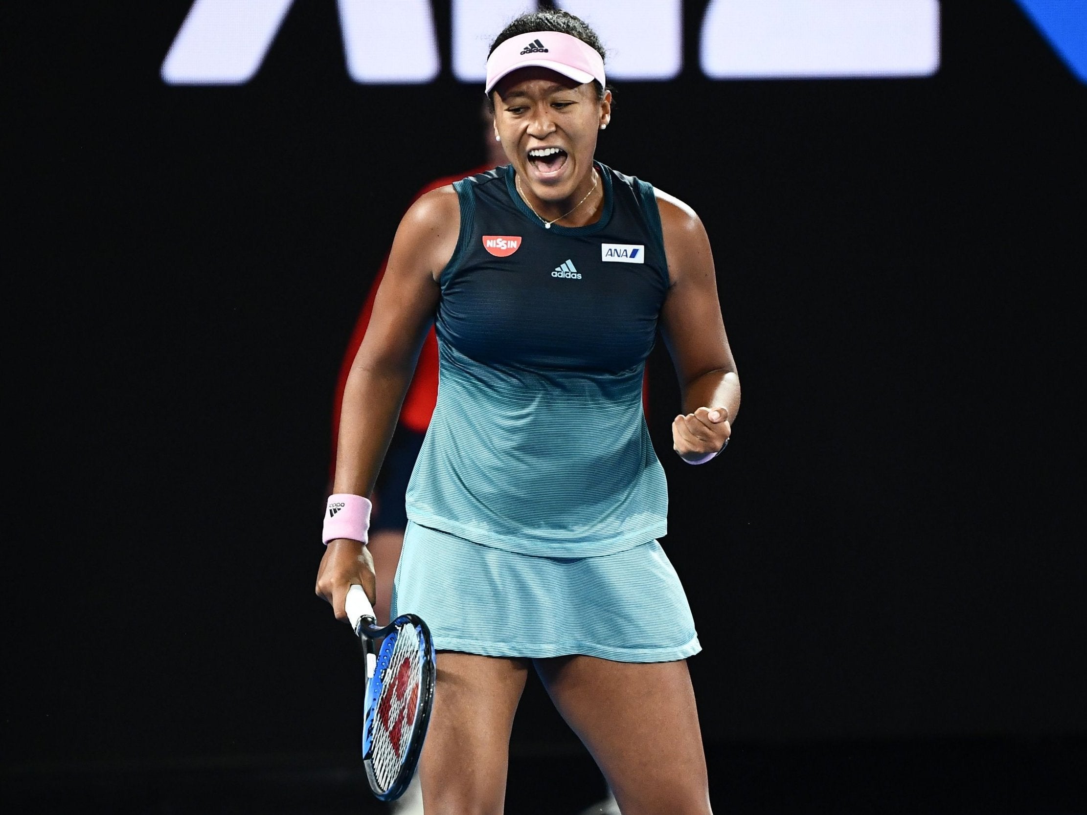
[[[426,815],[499,815],[527,660],[438,653],[420,777]]]

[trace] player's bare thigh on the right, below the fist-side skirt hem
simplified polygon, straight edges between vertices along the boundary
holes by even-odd
[[[596,758],[623,815],[709,815],[686,661],[537,660],[559,713]]]

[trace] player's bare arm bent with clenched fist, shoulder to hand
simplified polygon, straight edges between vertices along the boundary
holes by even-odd
[[[717,301],[713,253],[695,211],[657,192],[670,288],[661,333],[672,355],[683,413],[672,422],[673,446],[685,461],[720,451],[740,409],[740,380]]]

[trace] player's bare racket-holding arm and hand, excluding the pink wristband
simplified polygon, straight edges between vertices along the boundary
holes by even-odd
[[[438,277],[452,256],[460,208],[452,187],[423,196],[392,240],[366,335],[343,388],[334,492],[368,496],[396,428],[420,348],[438,304]],[[360,541],[329,541],[317,569],[316,593],[346,619],[348,587],[360,584],[375,601],[370,552]]]

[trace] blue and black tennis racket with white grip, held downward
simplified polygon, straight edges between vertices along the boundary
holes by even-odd
[[[347,617],[366,660],[362,762],[374,795],[395,801],[408,789],[418,763],[434,705],[434,641],[426,623],[401,614],[378,628],[361,586],[347,592]],[[374,641],[385,638],[380,653]]]

